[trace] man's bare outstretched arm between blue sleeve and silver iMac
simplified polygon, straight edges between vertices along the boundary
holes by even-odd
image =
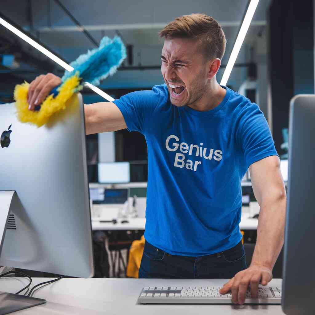
[[[127,128],[123,114],[112,102],[84,104],[84,116],[86,135]]]

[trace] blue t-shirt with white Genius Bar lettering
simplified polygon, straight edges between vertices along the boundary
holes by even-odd
[[[173,105],[166,84],[113,101],[148,146],[144,236],[172,255],[235,246],[242,238],[241,180],[250,164],[278,155],[259,106],[221,87],[223,101],[205,112]]]

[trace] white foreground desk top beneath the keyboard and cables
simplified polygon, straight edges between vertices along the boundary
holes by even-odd
[[[31,286],[49,278],[33,278]],[[80,279],[64,278],[38,289],[34,297],[46,299],[43,305],[17,314],[156,314],[156,315],[227,315],[284,314],[280,305],[141,305],[136,304],[140,290],[150,286],[222,286],[222,279]],[[0,290],[15,293],[28,283],[25,278],[1,278]],[[282,279],[273,279],[270,286],[281,286]],[[13,313],[15,314],[15,313]]]

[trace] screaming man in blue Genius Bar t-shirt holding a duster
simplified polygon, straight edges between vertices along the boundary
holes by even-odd
[[[280,161],[255,103],[216,81],[226,39],[205,14],[176,18],[161,32],[165,84],[113,102],[84,105],[86,133],[127,128],[146,137],[148,188],[140,278],[231,278],[242,304],[248,286],[272,279],[284,241],[286,192]],[[30,110],[60,78],[31,83]],[[261,211],[247,268],[239,231],[241,180],[249,168]]]

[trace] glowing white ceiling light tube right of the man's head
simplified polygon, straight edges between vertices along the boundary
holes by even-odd
[[[253,16],[254,16],[255,10],[257,8],[258,2],[259,2],[259,0],[251,0],[249,3],[249,6],[248,6],[247,12],[245,14],[242,26],[239,30],[239,33],[238,33],[238,36],[236,38],[234,47],[232,49],[232,53],[230,55],[229,61],[227,62],[225,71],[223,73],[221,83],[220,83],[221,85],[226,85],[227,80],[230,77],[230,74],[232,72],[232,69],[233,69],[233,66],[235,64],[236,58],[238,56],[239,50],[242,47],[244,38],[245,38],[246,33],[248,31],[250,22],[253,19]]]

